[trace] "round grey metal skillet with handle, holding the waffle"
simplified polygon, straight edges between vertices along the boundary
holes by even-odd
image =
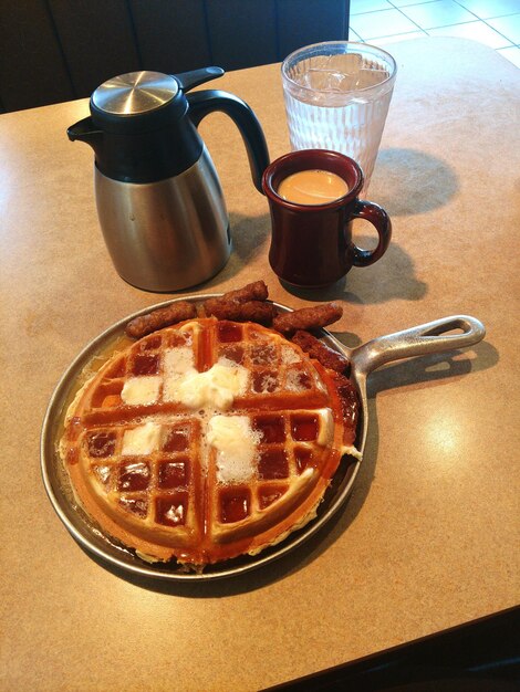
[[[318,516],[310,524],[290,534],[282,543],[262,551],[256,556],[241,556],[226,560],[218,565],[208,565],[201,574],[186,572],[181,566],[171,564],[148,564],[136,557],[133,551],[121,545],[110,536],[104,535],[77,504],[58,455],[58,443],[62,433],[63,416],[77,388],[77,380],[84,368],[100,353],[107,350],[113,342],[124,334],[129,319],[144,315],[157,307],[164,307],[179,300],[202,301],[220,294],[197,295],[189,298],[174,298],[150,307],[146,307],[108,327],[93,339],[75,358],[59,381],[43,420],[41,436],[41,468],[43,483],[49,499],[59,517],[80,545],[94,556],[107,562],[113,567],[142,577],[166,579],[174,581],[210,580],[241,575],[251,569],[268,565],[279,557],[290,553],[304,541],[314,535],[342,507],[347,500],[360,462],[353,457],[345,458],[337,469],[334,479],[327,489],[323,502],[319,506]],[[289,307],[275,303],[280,312],[291,312]],[[457,329],[457,333],[453,333]],[[332,348],[344,353],[351,364],[351,379],[357,388],[361,400],[361,417],[356,437],[356,448],[363,453],[368,431],[368,406],[366,396],[366,379],[376,368],[412,356],[424,356],[458,348],[472,346],[485,336],[483,325],[475,317],[457,315],[435,322],[404,329],[387,336],[379,336],[362,346],[350,349],[343,346],[329,332],[322,331],[322,339]]]

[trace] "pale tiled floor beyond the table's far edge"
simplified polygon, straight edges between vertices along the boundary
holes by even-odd
[[[520,67],[520,0],[351,0],[351,41],[424,35],[474,39]]]

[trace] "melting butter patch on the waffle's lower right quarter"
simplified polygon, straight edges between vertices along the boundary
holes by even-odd
[[[221,483],[248,481],[256,470],[260,433],[247,416],[214,416],[207,440],[217,450],[217,479]]]

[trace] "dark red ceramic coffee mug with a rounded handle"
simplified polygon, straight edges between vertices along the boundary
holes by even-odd
[[[346,182],[349,192],[323,205],[300,205],[278,193],[281,181],[301,170],[326,170]],[[382,207],[357,198],[363,172],[352,158],[326,149],[302,149],[277,159],[263,174],[262,187],[271,211],[269,262],[283,281],[318,289],[334,283],[352,266],[368,266],[386,252],[392,222]],[[376,229],[374,250],[352,242],[352,220],[366,219]]]

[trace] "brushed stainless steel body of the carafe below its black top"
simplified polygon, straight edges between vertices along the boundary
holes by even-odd
[[[206,146],[190,168],[156,182],[122,182],[95,167],[95,197],[114,266],[134,286],[194,286],[228,261],[228,213]]]

